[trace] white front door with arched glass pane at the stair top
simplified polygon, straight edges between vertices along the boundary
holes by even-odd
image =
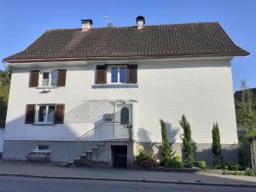
[[[129,139],[132,123],[132,105],[119,103],[116,106],[115,137],[116,139]]]

